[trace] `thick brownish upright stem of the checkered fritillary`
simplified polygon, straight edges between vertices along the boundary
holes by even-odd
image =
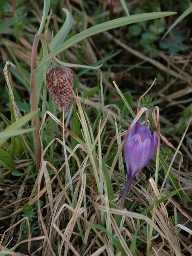
[[[41,38],[44,38],[43,34],[36,34],[33,41],[33,46],[32,46],[31,79],[30,79],[30,82],[31,82],[30,104],[31,104],[32,111],[38,108],[37,70],[35,70],[35,68],[36,68],[38,43]],[[35,130],[33,131],[33,138],[34,138],[34,145],[35,145],[36,167],[38,172],[41,164],[41,141],[39,137],[39,115],[38,114],[32,118],[32,125],[33,127],[35,127]]]

